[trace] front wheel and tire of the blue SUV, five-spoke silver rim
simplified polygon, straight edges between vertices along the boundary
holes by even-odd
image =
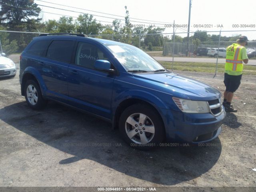
[[[156,147],[165,138],[160,115],[146,104],[134,104],[122,112],[119,132],[126,143],[140,150]]]

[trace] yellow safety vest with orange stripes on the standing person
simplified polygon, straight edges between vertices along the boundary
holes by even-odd
[[[237,43],[227,47],[225,70],[232,71],[234,75],[240,75],[243,71],[242,48],[243,46]]]

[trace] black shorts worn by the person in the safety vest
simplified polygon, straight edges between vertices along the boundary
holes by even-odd
[[[226,86],[226,92],[234,93],[238,89],[241,83],[241,78],[242,78],[242,74],[229,75],[227,73],[224,73],[224,84]]]

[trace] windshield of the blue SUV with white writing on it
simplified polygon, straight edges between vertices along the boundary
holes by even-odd
[[[107,44],[128,72],[160,72],[166,69],[144,51],[128,44]]]

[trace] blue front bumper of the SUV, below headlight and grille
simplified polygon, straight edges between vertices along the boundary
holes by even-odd
[[[225,110],[219,116],[212,114],[188,114],[172,111],[165,115],[166,138],[181,142],[208,142],[218,137],[226,116]]]

